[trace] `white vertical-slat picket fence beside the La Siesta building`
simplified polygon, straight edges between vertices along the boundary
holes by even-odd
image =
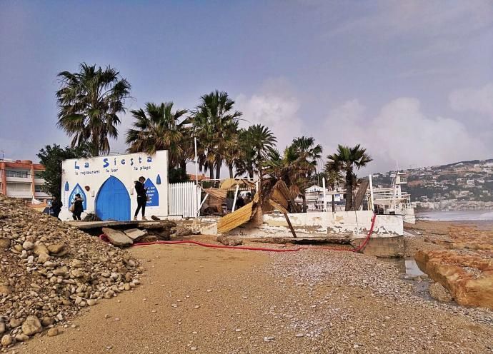
[[[194,182],[169,184],[169,216],[194,218],[199,208],[200,188]]]

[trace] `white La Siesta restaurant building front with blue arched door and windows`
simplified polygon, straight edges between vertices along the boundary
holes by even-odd
[[[77,193],[84,199],[84,213],[96,213],[101,220],[131,220],[137,207],[134,181],[140,176],[146,178],[148,188],[146,216],[168,216],[167,151],[156,151],[154,156],[129,153],[64,161],[61,220],[71,218],[69,206]]]

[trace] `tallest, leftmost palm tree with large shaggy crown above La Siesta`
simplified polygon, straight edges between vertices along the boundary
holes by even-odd
[[[117,138],[119,114],[126,110],[130,84],[119,72],[80,64],[79,72],[62,71],[61,89],[56,92],[59,105],[58,126],[72,137],[71,146],[89,143],[92,156],[109,153],[109,138]]]

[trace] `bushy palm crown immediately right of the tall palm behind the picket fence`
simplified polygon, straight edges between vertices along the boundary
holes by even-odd
[[[267,126],[256,124],[239,133],[239,155],[236,158],[236,176],[247,174],[261,175],[262,163],[267,160],[269,152],[277,143],[277,138]]]

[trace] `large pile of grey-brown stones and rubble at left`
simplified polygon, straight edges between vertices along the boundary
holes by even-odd
[[[94,236],[0,196],[0,348],[139,284],[139,263]]]

